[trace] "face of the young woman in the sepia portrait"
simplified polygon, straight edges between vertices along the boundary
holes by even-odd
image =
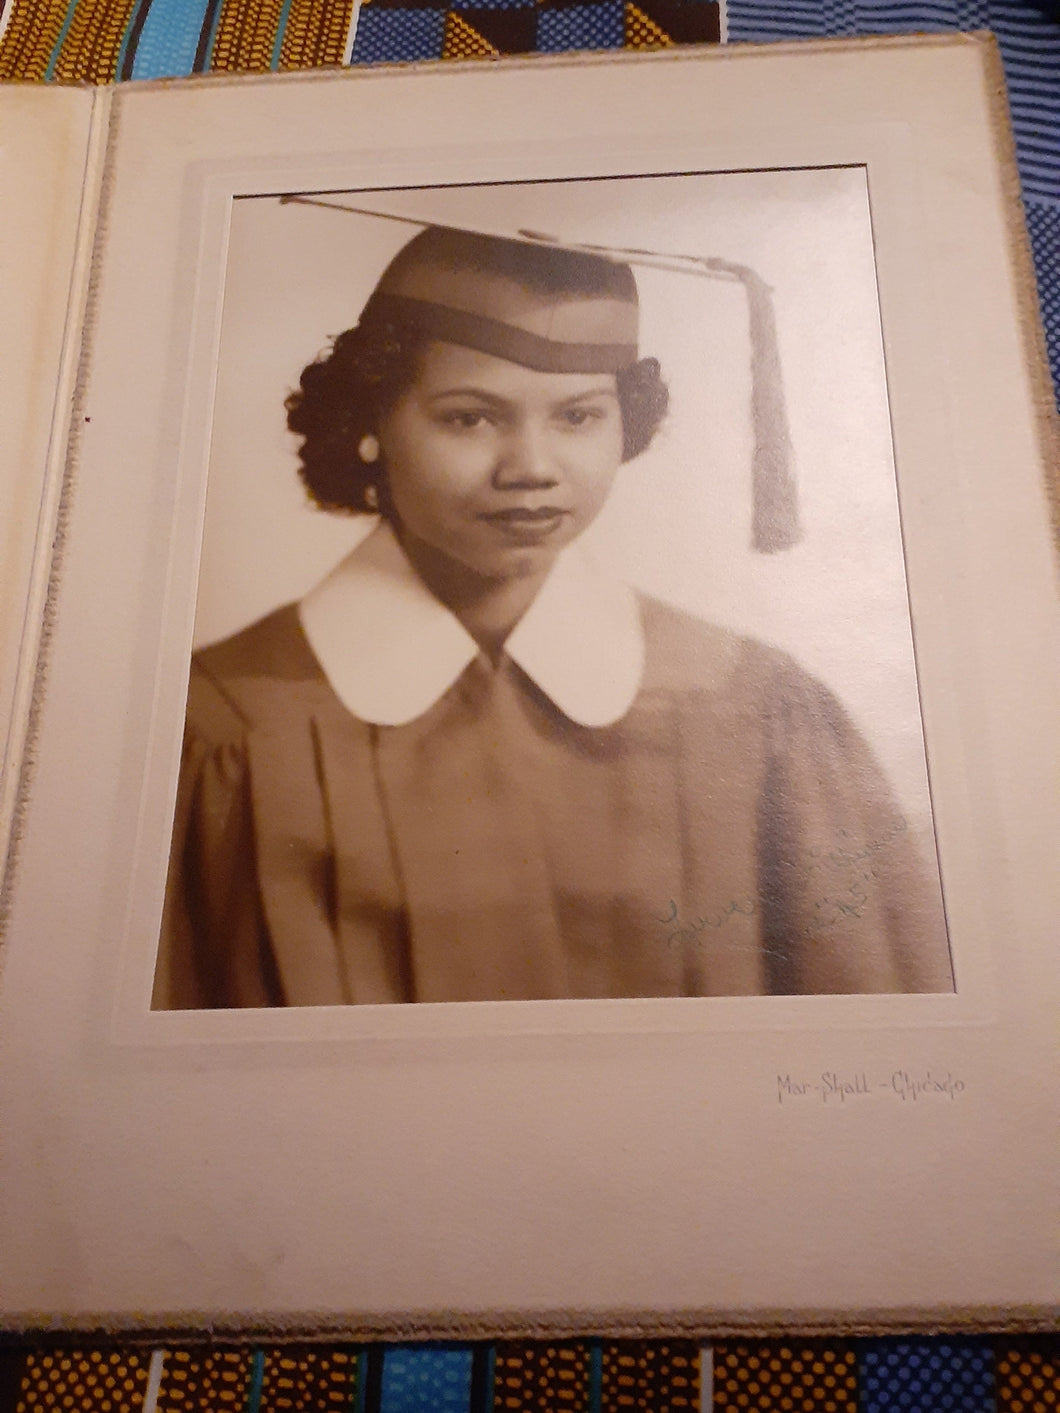
[[[612,373],[540,373],[428,343],[379,441],[410,550],[486,579],[522,578],[546,569],[608,499],[622,410]]]

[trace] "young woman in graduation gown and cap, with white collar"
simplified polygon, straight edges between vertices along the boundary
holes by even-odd
[[[397,254],[288,400],[377,527],[192,663],[155,1007],[951,989],[834,697],[578,551],[666,408],[628,264]]]

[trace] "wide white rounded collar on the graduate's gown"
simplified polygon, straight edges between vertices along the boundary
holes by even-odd
[[[416,721],[479,653],[386,523],[305,595],[298,616],[338,698],[377,726]],[[567,548],[505,651],[571,721],[609,726],[626,715],[643,675],[636,596]]]

